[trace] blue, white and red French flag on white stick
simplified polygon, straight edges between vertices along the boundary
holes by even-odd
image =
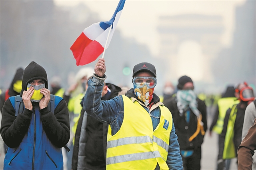
[[[82,34],[70,47],[74,58],[76,59],[77,66],[95,61],[104,51],[104,46],[106,45],[106,49],[108,48],[110,40],[112,39],[116,29],[117,22],[124,8],[124,2],[125,0],[119,1],[113,16],[109,21],[98,22],[84,29]],[[112,28],[110,28],[111,25]],[[110,31],[108,37],[108,32],[110,29],[112,30]],[[107,37],[108,42],[106,44]]]

